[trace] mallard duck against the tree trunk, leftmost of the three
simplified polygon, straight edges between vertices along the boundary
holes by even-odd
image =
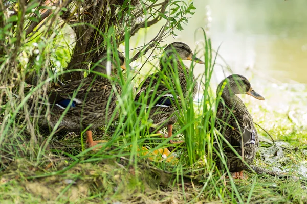
[[[107,54],[103,53],[99,60],[99,66],[93,71],[103,74],[107,73],[107,68],[111,70],[111,76],[116,77],[117,63],[115,56],[111,54],[113,63],[106,60]],[[126,69],[125,57],[118,52],[119,66]],[[135,73],[138,71],[133,70]],[[86,78],[64,85],[48,95],[48,105],[50,114],[48,119],[45,116],[40,121],[41,124],[49,125],[52,128],[58,123],[60,117],[65,112],[64,117],[58,124],[58,129],[66,131],[86,131],[86,143],[88,147],[95,146],[99,141],[93,141],[92,131],[97,127],[107,124],[111,119],[118,117],[118,112],[114,112],[118,95],[121,95],[121,86],[101,75],[90,73]],[[47,110],[47,109],[46,109]],[[46,111],[45,110],[45,111]]]

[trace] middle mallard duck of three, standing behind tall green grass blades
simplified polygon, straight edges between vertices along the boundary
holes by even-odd
[[[193,60],[196,63],[204,64],[202,60],[195,57],[188,45],[182,42],[174,42],[169,44],[164,49],[164,55],[160,61],[160,72],[172,82],[174,72],[178,72],[182,92],[184,97],[187,97],[188,87],[186,76],[189,76],[189,68],[187,66],[182,66],[180,62],[181,60]],[[177,63],[174,63],[174,61],[177,61]],[[152,120],[152,125],[149,131],[153,132],[157,130],[157,128],[162,129],[163,127],[167,126],[168,134],[164,137],[169,138],[172,136],[172,125],[177,121],[177,115],[179,115],[179,107],[174,104],[174,98],[176,97],[178,100],[180,100],[180,98],[173,94],[173,90],[169,90],[169,88],[165,86],[164,80],[160,77],[161,73],[158,72],[151,74],[147,79],[145,79],[144,82],[141,83],[139,86],[139,91],[136,94],[135,101],[138,101],[139,103],[146,103],[147,105],[152,103],[152,101],[156,102],[155,106],[150,107],[149,110],[149,119]],[[191,80],[194,83],[192,90],[194,98],[197,91],[197,82],[194,76]],[[176,87],[174,83],[172,84],[172,87]],[[142,101],[144,96],[148,96],[147,101]],[[139,108],[137,112],[139,112],[140,109],[141,108]],[[157,133],[160,133],[160,131]],[[174,142],[170,140],[170,142],[181,143],[183,141]]]

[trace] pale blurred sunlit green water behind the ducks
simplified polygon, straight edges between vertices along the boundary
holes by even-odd
[[[171,41],[195,48],[203,39],[196,30],[203,27],[235,73],[307,83],[306,0],[195,0],[194,6],[189,24]],[[222,69],[215,72],[221,75]]]

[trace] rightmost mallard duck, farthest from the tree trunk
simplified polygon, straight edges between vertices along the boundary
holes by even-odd
[[[217,98],[221,96],[221,100],[217,106],[215,126],[244,161],[251,164],[259,146],[258,135],[251,114],[236,94],[248,94],[258,100],[265,98],[254,91],[245,77],[238,74],[230,75],[217,87]],[[246,164],[225,142],[222,144],[229,171],[235,172],[234,177],[243,178]]]

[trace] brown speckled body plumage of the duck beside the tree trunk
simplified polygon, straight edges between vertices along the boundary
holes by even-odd
[[[75,107],[69,108],[64,118],[61,120],[59,128],[67,131],[80,131],[89,125],[91,129],[105,125],[110,119],[116,107],[117,94],[122,90],[118,83],[110,80],[89,76],[81,81],[75,81],[71,84],[51,92],[49,103],[52,104],[49,125],[54,127],[65,109],[56,105],[56,102],[62,98],[71,98],[73,93],[78,90],[75,98],[80,101]],[[114,87],[112,87],[112,85]],[[106,106],[108,101],[108,110]],[[116,114],[117,118],[118,114]],[[45,121],[46,122],[46,121]]]

